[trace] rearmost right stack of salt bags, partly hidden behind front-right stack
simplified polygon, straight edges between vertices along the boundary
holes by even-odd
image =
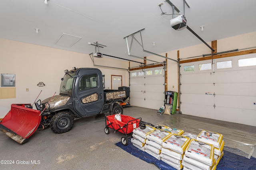
[[[216,164],[218,164],[217,160],[220,160],[220,158],[223,156],[223,149],[225,144],[223,135],[212,131],[202,130],[196,139],[198,141],[210,143],[214,146],[214,157],[216,158]]]

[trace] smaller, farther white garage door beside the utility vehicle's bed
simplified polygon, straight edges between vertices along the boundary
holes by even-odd
[[[164,105],[163,67],[130,72],[130,104],[150,109]]]

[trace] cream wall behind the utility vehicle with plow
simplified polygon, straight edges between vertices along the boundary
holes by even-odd
[[[106,65],[128,69],[128,62],[115,59],[94,58],[97,65]],[[0,118],[10,110],[14,103],[32,103],[42,90],[38,99],[59,94],[64,70],[72,67],[94,67],[90,56],[39,45],[0,39],[0,73],[16,74],[16,98],[0,99]],[[111,74],[123,76],[123,86],[129,86],[129,74],[126,70],[98,67],[105,74],[106,88],[111,88]],[[46,86],[38,87],[39,82]],[[29,89],[26,92],[26,88]]]

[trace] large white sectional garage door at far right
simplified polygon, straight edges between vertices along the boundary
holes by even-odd
[[[181,64],[182,114],[256,126],[255,57]]]

